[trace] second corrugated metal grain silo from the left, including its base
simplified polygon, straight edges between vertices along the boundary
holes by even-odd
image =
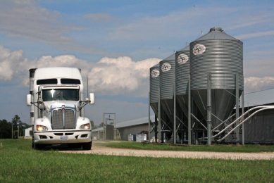
[[[162,139],[169,140],[173,134],[173,96],[175,93],[175,53],[160,62],[160,99]]]

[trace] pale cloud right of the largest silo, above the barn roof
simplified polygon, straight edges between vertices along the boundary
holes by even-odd
[[[246,77],[244,78],[244,90],[256,92],[274,87],[274,77]]]

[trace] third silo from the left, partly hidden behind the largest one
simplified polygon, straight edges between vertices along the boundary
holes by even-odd
[[[189,46],[175,53],[175,84],[176,84],[176,100],[178,106],[187,116],[188,111],[188,83],[190,77],[189,69]]]

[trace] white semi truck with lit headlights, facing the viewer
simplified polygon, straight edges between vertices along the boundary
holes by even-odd
[[[32,148],[53,144],[92,147],[92,124],[85,118],[85,106],[94,104],[94,94],[84,96],[81,70],[78,68],[32,68],[30,106]],[[85,98],[85,99],[84,99]]]

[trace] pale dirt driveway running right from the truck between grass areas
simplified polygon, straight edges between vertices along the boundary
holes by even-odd
[[[216,159],[242,159],[242,160],[270,160],[274,159],[274,153],[220,153],[197,151],[149,151],[135,149],[116,149],[100,146],[96,142],[92,144],[90,151],[61,151],[63,153],[89,153],[108,156],[139,156],[154,158],[216,158]]]

